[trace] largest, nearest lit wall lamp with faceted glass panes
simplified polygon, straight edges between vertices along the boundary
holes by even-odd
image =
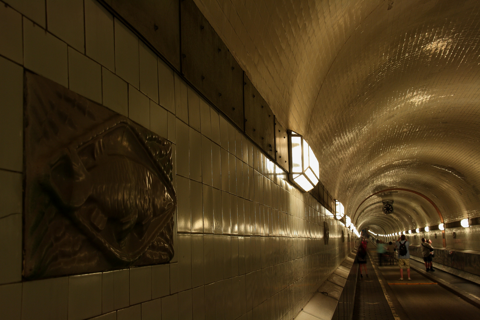
[[[290,181],[305,192],[312,190],[320,177],[317,157],[300,134],[289,131],[288,138]]]

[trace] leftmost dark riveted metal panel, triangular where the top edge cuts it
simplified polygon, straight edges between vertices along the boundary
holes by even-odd
[[[179,0],[101,0],[180,71]]]

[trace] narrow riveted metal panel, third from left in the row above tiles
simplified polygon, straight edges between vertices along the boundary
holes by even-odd
[[[267,154],[275,157],[275,117],[272,109],[270,109],[262,95],[255,89],[250,79],[246,75],[244,75],[243,79],[245,133]]]

